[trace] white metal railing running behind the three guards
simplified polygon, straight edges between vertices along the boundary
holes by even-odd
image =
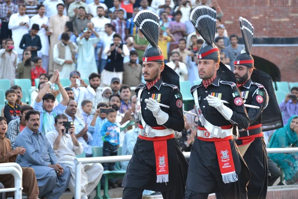
[[[297,148],[267,148],[267,153],[298,153]],[[183,152],[185,158],[189,158],[190,152]],[[107,162],[122,162],[129,161],[132,155],[125,156],[105,156],[93,158],[76,158],[75,164],[75,193],[74,199],[80,199],[80,183],[81,183],[81,168],[82,164],[88,163],[107,163]]]

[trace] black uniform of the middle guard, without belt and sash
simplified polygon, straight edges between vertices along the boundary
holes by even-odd
[[[221,81],[220,74],[217,73],[217,78],[207,87],[207,89],[202,83],[193,86],[191,92],[193,93],[196,89],[198,91],[200,108],[206,120],[216,126],[235,124],[240,128],[248,127],[249,119],[235,83]],[[230,120],[226,120],[215,107],[208,104],[208,101],[206,100],[208,95],[213,95],[221,98],[221,100],[229,102],[224,105],[233,110]],[[199,127],[203,127],[200,121],[198,125]],[[238,175],[238,178],[243,175],[243,178],[246,179],[247,183],[249,180],[249,171],[241,159],[241,155],[239,154],[234,140],[229,140],[229,143],[235,172]],[[225,199],[234,197],[240,199],[240,195],[246,196],[245,184],[240,185],[240,182],[238,181],[235,183],[224,184],[215,142],[203,141],[200,139],[195,140],[191,149],[188,172],[185,199],[207,199],[210,193],[216,192],[221,192]]]

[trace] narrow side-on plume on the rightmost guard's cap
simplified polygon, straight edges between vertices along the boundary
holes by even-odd
[[[243,42],[245,46],[245,51],[247,54],[251,52],[252,40],[253,40],[253,26],[252,24],[246,19],[239,17],[240,21],[240,29],[243,37]],[[241,51],[241,54],[243,52]]]

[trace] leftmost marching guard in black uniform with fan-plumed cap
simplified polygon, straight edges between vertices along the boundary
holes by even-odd
[[[123,199],[141,199],[144,190],[161,192],[164,199],[184,197],[187,161],[173,134],[184,128],[179,76],[163,62],[156,16],[143,10],[134,19],[150,44],[143,57],[147,83],[136,89],[139,137],[123,179]],[[158,102],[169,108],[160,107]]]

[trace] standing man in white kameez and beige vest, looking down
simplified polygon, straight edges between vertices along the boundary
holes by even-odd
[[[64,32],[61,36],[61,41],[54,46],[53,51],[54,68],[60,71],[61,78],[68,78],[69,74],[74,71],[74,55],[76,52],[77,45],[70,41],[70,35]]]

